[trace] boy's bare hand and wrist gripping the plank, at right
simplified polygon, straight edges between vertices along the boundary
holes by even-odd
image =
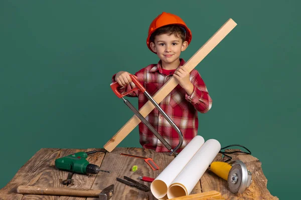
[[[176,80],[178,80],[179,84],[185,89],[188,95],[191,95],[194,86],[189,79],[190,73],[188,72],[188,70],[183,66],[179,66],[174,72],[174,77],[176,78]]]

